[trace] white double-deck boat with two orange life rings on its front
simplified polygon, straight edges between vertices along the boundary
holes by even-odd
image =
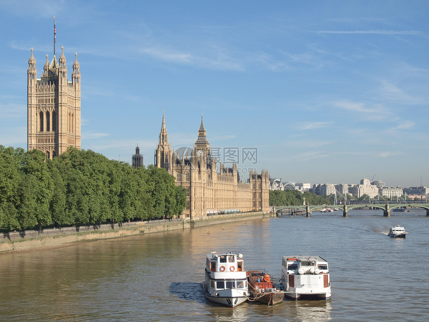
[[[247,300],[247,276],[243,255],[212,252],[206,257],[206,278],[203,283],[207,299],[235,307]]]

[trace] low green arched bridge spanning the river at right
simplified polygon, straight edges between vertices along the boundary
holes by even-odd
[[[343,204],[343,205],[302,205],[302,206],[277,206],[273,207],[273,212],[275,214],[278,213],[278,211],[290,209],[293,210],[302,210],[307,213],[307,217],[310,217],[310,214],[312,211],[320,211],[323,208],[334,208],[343,210],[343,216],[347,217],[349,210],[352,209],[360,209],[360,208],[370,208],[370,209],[381,209],[383,210],[383,216],[390,217],[391,210],[398,209],[398,208],[404,208],[404,207],[416,207],[416,208],[423,208],[426,209],[426,216],[429,216],[429,204],[422,203],[422,202],[407,202],[407,203],[398,203],[398,204],[390,204],[390,203],[360,203],[360,204]]]

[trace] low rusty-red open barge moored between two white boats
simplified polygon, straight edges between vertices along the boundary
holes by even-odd
[[[247,271],[247,281],[249,287],[249,301],[256,301],[266,305],[281,303],[284,292],[277,289],[271,277],[261,271]]]

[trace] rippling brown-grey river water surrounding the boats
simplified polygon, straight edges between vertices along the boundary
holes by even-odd
[[[395,224],[406,239],[387,236]],[[428,321],[426,211],[281,216],[0,255],[1,321]],[[242,253],[280,277],[281,257],[329,263],[328,301],[231,309],[205,299],[205,256]]]

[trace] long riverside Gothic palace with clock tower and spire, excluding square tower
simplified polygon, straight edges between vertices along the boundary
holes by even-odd
[[[205,217],[210,214],[239,212],[268,212],[269,174],[249,172],[248,183],[240,180],[237,164],[225,167],[211,155],[209,140],[201,117],[198,137],[191,155],[177,155],[168,141],[163,114],[159,143],[155,150],[155,165],[166,169],[187,191],[187,205],[183,217]]]

